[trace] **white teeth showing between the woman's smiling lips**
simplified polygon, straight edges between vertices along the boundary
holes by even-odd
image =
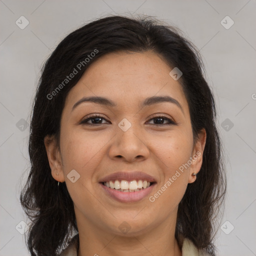
[[[104,186],[121,191],[121,192],[135,192],[135,191],[140,191],[143,190],[149,186],[151,186],[155,182],[149,182],[147,180],[132,180],[132,181],[127,181],[127,180],[109,180],[105,182],[100,182]]]

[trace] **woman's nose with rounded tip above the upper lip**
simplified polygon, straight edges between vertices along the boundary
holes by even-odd
[[[117,133],[111,140],[109,148],[109,157],[111,159],[120,158],[121,160],[132,162],[142,161],[149,157],[149,148],[146,140],[135,125],[131,125],[126,131],[117,126]]]

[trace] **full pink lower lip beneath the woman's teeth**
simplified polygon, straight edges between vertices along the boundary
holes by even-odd
[[[119,202],[137,202],[145,198],[152,191],[153,186],[155,185],[155,183],[153,183],[149,187],[144,188],[140,191],[122,192],[122,191],[117,191],[116,189],[104,186],[101,183],[99,184],[111,198],[114,198]]]

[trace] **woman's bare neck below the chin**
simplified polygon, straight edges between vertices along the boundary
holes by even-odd
[[[79,218],[78,218],[79,219]],[[107,232],[90,221],[77,220],[79,248],[77,256],[85,255],[122,255],[130,256],[182,256],[181,248],[175,239],[175,223],[171,216],[147,231],[124,235]],[[166,224],[166,222],[168,224]]]

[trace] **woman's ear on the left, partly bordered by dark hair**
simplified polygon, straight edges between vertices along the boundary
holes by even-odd
[[[46,135],[44,137],[44,145],[46,148],[52,177],[59,182],[65,181],[61,155],[55,136]]]

